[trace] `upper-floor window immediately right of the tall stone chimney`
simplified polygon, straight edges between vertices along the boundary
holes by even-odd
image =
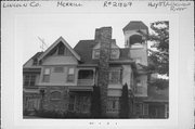
[[[121,80],[120,70],[109,70],[109,83],[120,83]]]

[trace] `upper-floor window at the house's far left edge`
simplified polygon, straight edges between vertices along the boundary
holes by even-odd
[[[24,76],[24,86],[32,87],[36,85],[36,75]]]

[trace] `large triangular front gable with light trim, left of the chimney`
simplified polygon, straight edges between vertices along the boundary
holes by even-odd
[[[77,62],[80,61],[80,56],[60,37],[43,52],[38,61],[41,62],[42,65],[77,64]]]

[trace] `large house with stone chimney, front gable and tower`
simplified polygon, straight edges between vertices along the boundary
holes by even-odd
[[[105,104],[103,113],[118,117],[121,89],[127,83],[133,93],[133,115],[148,115],[150,100],[144,102],[148,98],[147,42],[139,31],[147,34],[148,28],[142,22],[130,22],[123,28],[125,48],[112,39],[112,27],[95,29],[93,40],[80,40],[74,49],[60,37],[23,66],[24,111],[90,114],[96,86]]]

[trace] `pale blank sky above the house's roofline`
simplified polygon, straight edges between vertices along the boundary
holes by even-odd
[[[150,27],[154,21],[147,17],[128,14],[50,14],[22,15],[15,20],[15,41],[23,44],[23,62],[41,51],[40,37],[51,46],[58,37],[63,37],[72,48],[79,40],[94,39],[95,28],[113,27],[113,38],[121,48],[125,46],[122,28],[130,21],[142,21]]]

